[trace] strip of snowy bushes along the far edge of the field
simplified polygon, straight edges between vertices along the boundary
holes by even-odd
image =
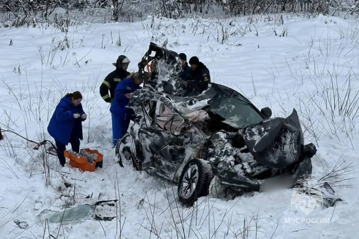
[[[70,19],[90,22],[137,21],[148,15],[183,18],[193,15],[238,16],[259,13],[306,12],[335,14],[358,11],[355,0],[0,0],[4,27],[52,24],[52,15],[69,11]]]

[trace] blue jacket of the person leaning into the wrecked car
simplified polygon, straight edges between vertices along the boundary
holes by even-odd
[[[127,99],[126,94],[130,94],[141,88],[142,87],[134,84],[133,79],[123,79],[116,87],[115,100],[113,100],[110,107],[111,113],[114,113],[121,118],[125,118],[130,113],[130,109],[125,107],[129,104],[129,99]]]

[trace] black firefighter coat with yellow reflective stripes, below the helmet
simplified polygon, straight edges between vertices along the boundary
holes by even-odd
[[[130,75],[130,72],[123,70],[122,68],[116,68],[115,71],[109,73],[103,80],[100,86],[100,95],[106,102],[111,102],[115,99],[115,89],[122,79]],[[109,94],[108,94],[108,91]]]

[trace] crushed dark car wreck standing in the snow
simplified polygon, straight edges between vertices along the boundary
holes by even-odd
[[[151,66],[151,71],[146,67]],[[193,205],[200,196],[293,187],[312,173],[313,144],[304,145],[297,112],[270,118],[229,87],[182,82],[176,52],[150,44],[139,63],[144,87],[128,107],[134,124],[116,145],[120,165],[178,184],[178,198]]]

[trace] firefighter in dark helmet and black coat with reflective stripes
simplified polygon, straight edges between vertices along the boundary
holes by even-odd
[[[104,101],[112,104],[118,82],[130,75],[130,72],[127,71],[129,63],[130,59],[123,55],[119,56],[115,63],[112,63],[116,66],[116,70],[109,73],[100,86],[100,95]]]

